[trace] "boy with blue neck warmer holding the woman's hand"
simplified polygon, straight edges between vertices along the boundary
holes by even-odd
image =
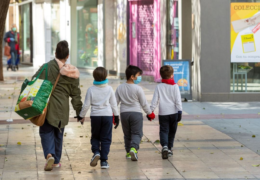
[[[108,86],[107,71],[97,67],[93,71],[94,82],[87,90],[85,101],[78,119],[85,117],[91,105],[91,150],[94,153],[90,166],[96,166],[100,159],[101,169],[109,168],[107,155],[112,142],[112,127],[119,125],[116,98],[111,86]],[[113,122],[114,114],[114,122]]]

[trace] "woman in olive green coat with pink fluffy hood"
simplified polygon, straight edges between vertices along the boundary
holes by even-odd
[[[45,122],[43,126],[40,126],[42,149],[46,158],[44,170],[46,171],[61,166],[63,132],[69,121],[69,97],[72,98],[71,103],[77,116],[82,108],[79,88],[80,72],[75,66],[65,64],[69,57],[68,46],[67,41],[60,41],[57,44],[55,59],[47,63],[48,80],[52,84],[55,83],[59,73],[61,73],[61,76],[50,97]],[[44,65],[41,66],[33,78],[40,73]],[[39,79],[45,79],[45,69]],[[79,120],[81,119],[78,118],[78,122]]]

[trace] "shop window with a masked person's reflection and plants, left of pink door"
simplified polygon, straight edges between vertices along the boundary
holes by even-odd
[[[77,66],[97,67],[97,1],[77,1]]]

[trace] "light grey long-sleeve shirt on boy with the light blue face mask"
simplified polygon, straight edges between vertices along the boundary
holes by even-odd
[[[141,107],[146,114],[152,111],[145,98],[143,89],[136,84],[123,83],[120,84],[115,91],[117,105],[121,102],[121,112],[142,112]]]

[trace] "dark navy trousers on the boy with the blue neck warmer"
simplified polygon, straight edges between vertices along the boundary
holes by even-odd
[[[91,150],[100,153],[100,161],[106,161],[112,142],[113,116],[90,116]]]

